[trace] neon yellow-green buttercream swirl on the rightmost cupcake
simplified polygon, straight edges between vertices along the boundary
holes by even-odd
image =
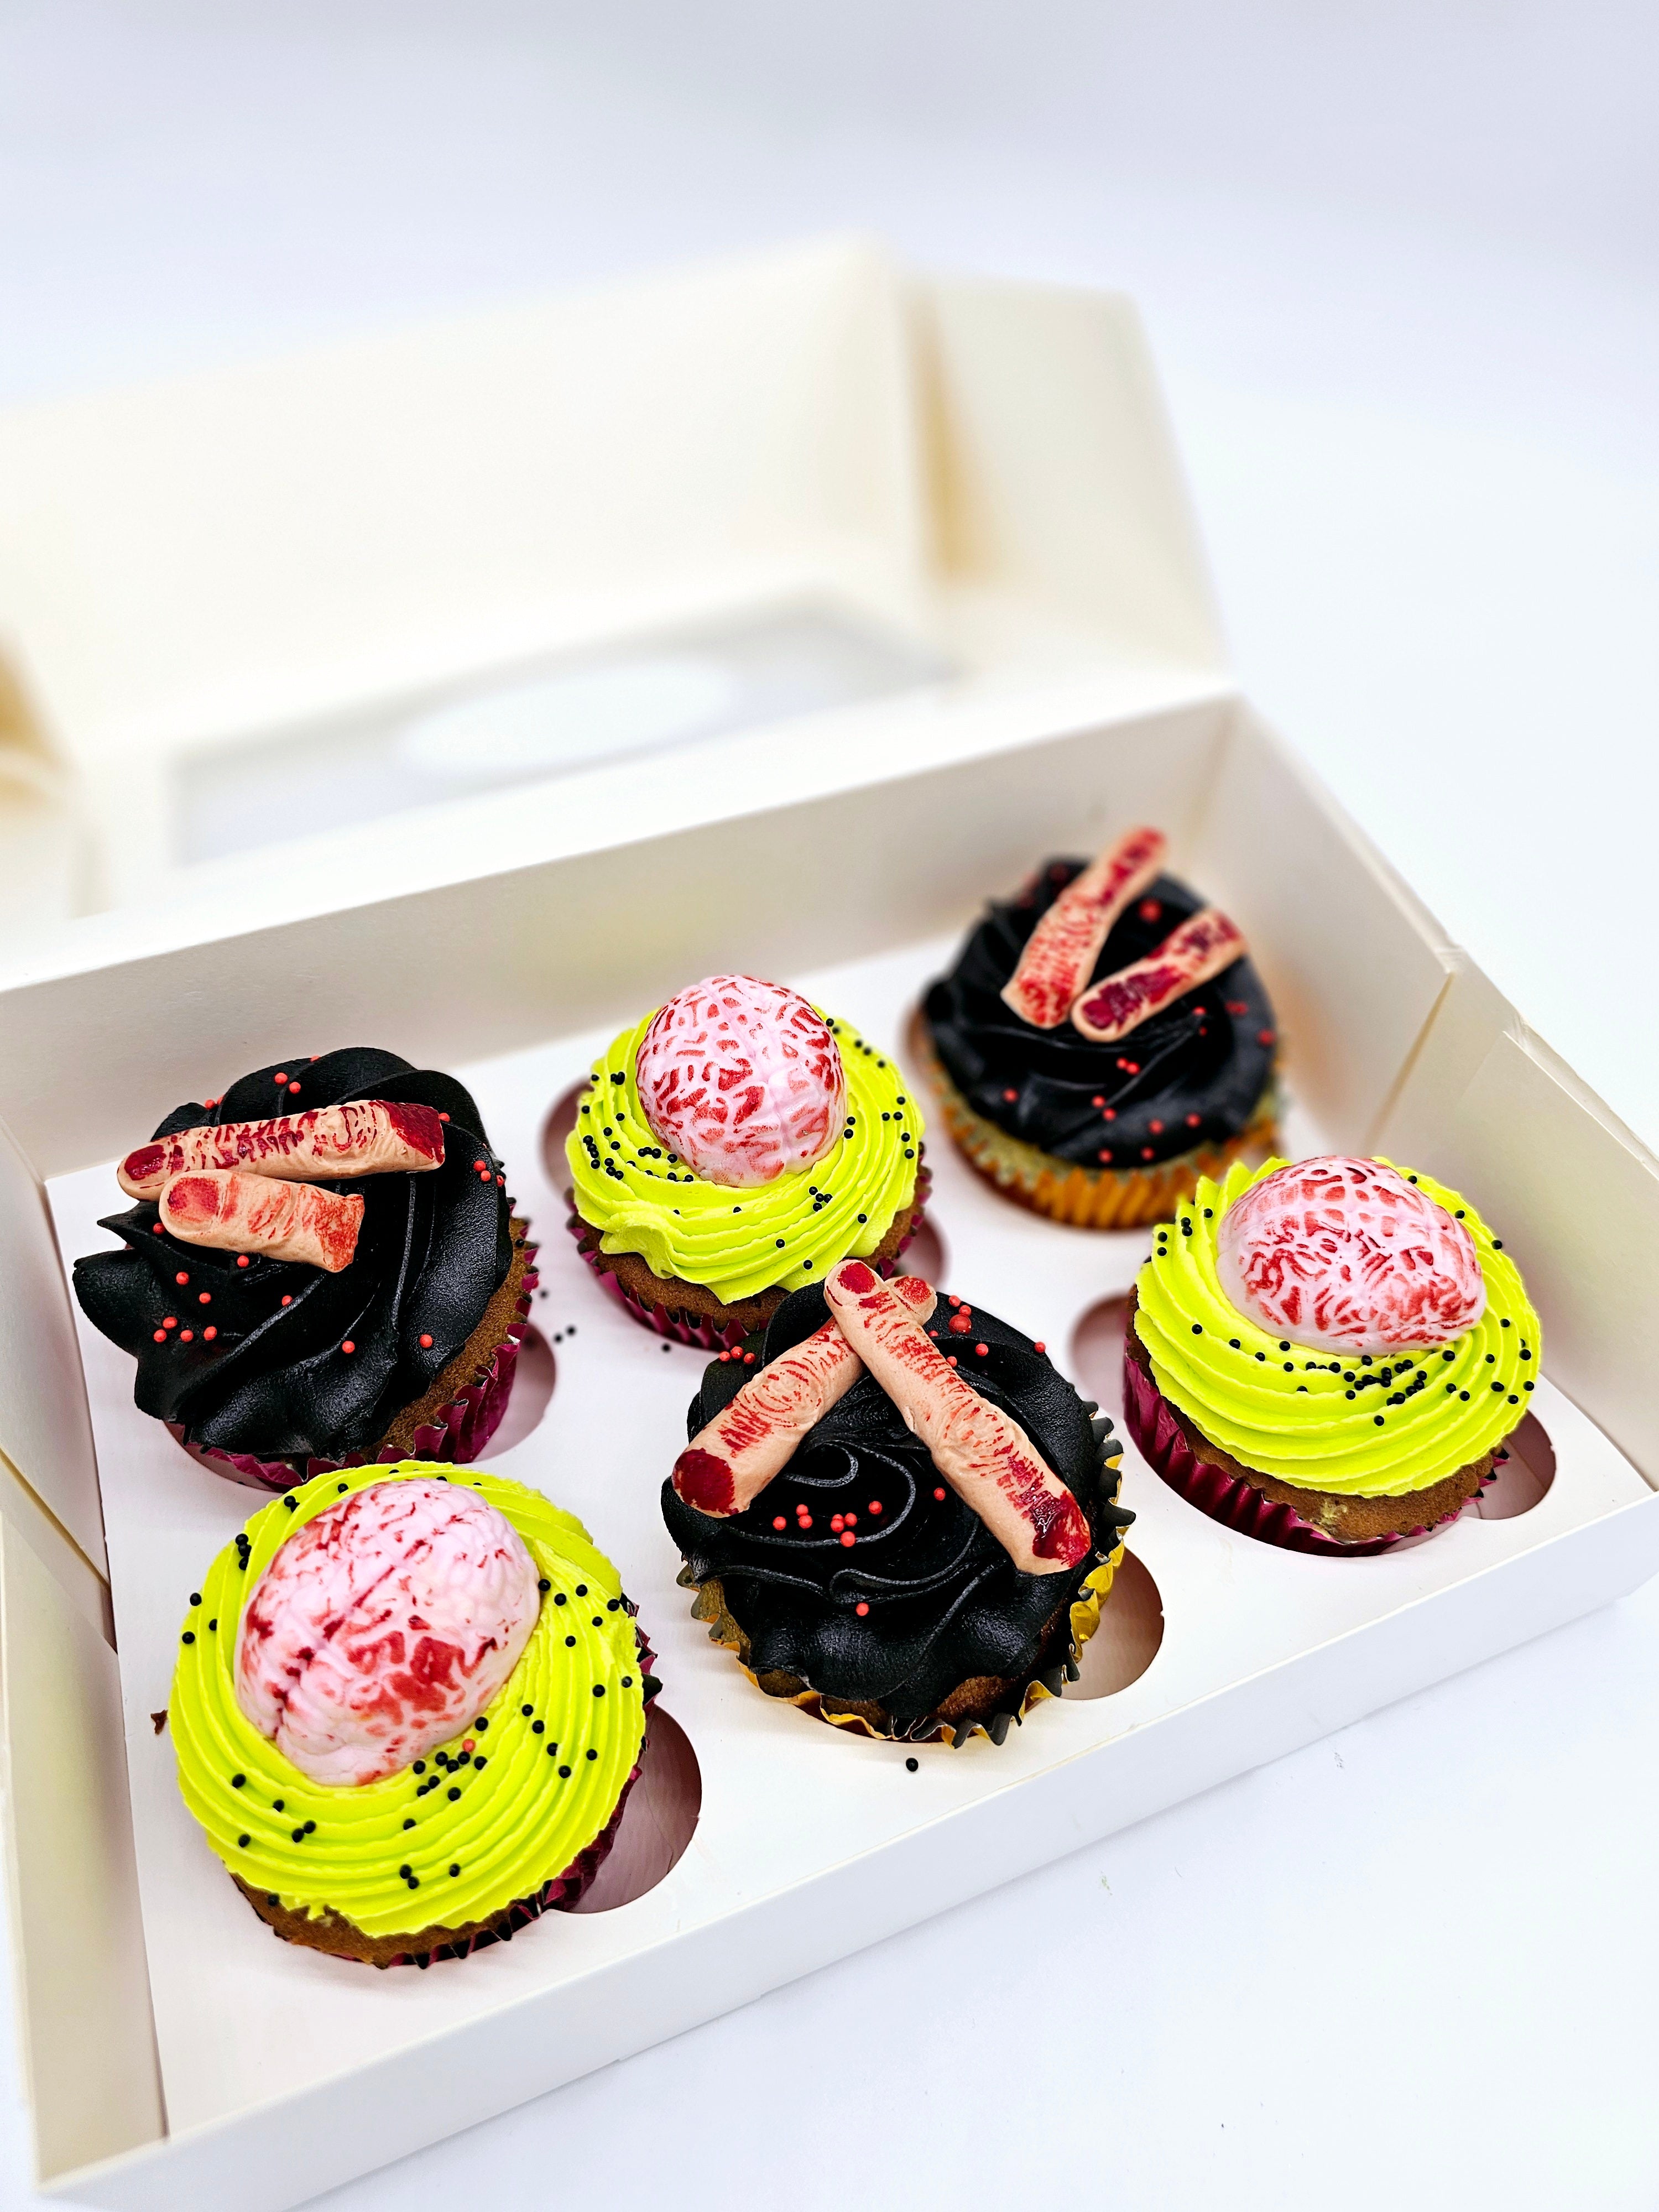
[[[1383,1358],[1336,1358],[1267,1336],[1221,1290],[1217,1232],[1234,1199],[1283,1166],[1239,1164],[1221,1186],[1201,1177],[1175,1223],[1155,1232],[1135,1285],[1135,1334],[1152,1380],[1212,1444],[1281,1482],[1349,1498],[1405,1498],[1442,1482],[1526,1418],[1542,1334],[1520,1270],[1467,1199],[1400,1168],[1475,1241],[1486,1283],[1475,1327]]]

